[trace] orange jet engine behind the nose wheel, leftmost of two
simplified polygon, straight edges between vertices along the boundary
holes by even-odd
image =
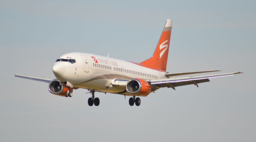
[[[49,83],[48,90],[58,96],[66,96],[67,93],[73,92],[73,88],[66,87],[65,84],[61,83],[59,80],[52,80]]]

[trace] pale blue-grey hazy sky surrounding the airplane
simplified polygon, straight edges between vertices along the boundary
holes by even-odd
[[[255,142],[256,1],[0,0],[0,141]],[[141,62],[173,20],[168,72],[242,71],[211,82],[128,97],[88,90],[72,98],[48,84],[56,58],[88,52]]]

